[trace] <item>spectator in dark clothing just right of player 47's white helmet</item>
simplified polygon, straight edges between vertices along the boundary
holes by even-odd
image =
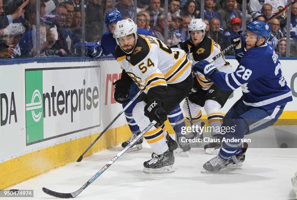
[[[220,20],[217,17],[210,20],[210,37],[218,43],[222,49],[227,48],[228,42],[223,34],[220,33]]]

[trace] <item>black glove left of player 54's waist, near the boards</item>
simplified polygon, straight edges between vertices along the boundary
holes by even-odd
[[[117,80],[113,85],[115,86],[115,101],[121,104],[128,102],[130,86],[127,87],[127,84],[121,79]]]

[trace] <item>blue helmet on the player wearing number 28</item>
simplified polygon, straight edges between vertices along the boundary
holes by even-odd
[[[271,35],[270,26],[264,21],[256,20],[249,24],[247,24],[246,31],[255,33],[257,36],[257,41],[259,41],[262,37],[265,38],[265,42],[269,39]],[[246,34],[246,32],[244,33]]]

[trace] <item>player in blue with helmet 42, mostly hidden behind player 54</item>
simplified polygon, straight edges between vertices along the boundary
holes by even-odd
[[[115,47],[117,46],[116,40],[114,38],[115,25],[117,21],[120,21],[122,19],[122,14],[117,10],[112,10],[106,13],[105,24],[108,27],[108,31],[106,31],[102,35],[101,40],[98,43],[86,43],[86,51],[91,57],[99,57],[101,54],[112,54],[115,57]],[[137,28],[137,33],[150,35],[147,30],[141,28]],[[127,88],[125,84],[121,83],[123,83],[121,80],[115,82],[114,96],[115,100],[118,103],[122,103],[122,106],[124,108],[129,103],[129,101],[139,92],[139,88],[136,86],[136,84],[132,84],[130,88]],[[140,133],[139,127],[132,117],[132,110],[134,106],[139,102],[138,99],[134,100],[132,105],[125,111],[125,116],[132,132],[132,137],[123,142],[122,147],[126,147],[138,135],[138,133]],[[178,105],[167,117],[175,133],[181,133],[181,127],[185,126],[185,122],[180,106]],[[174,144],[174,141],[169,137],[169,135],[167,137],[167,139],[170,140],[169,146],[177,146],[176,144]],[[140,150],[142,148],[142,142],[143,140],[140,139],[135,145],[136,148],[133,150]]]

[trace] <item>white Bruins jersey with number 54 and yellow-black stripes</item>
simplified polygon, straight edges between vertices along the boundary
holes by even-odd
[[[134,50],[115,48],[116,60],[145,93],[150,88],[184,81],[191,73],[191,61],[181,49],[170,49],[161,40],[138,35]]]

